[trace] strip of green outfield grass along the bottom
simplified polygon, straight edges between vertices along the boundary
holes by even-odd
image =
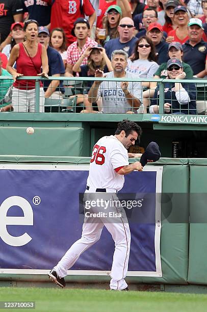
[[[68,288],[2,287],[0,301],[35,301],[35,310],[12,309],[34,312],[204,312],[207,307],[206,295]]]

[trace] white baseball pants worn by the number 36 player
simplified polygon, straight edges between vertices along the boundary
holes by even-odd
[[[88,194],[90,194],[90,196],[92,195],[91,193]],[[95,194],[95,196],[97,195]],[[109,195],[108,193],[107,196],[108,199],[112,198],[113,200],[118,200],[115,194]],[[124,278],[127,273],[128,258],[130,256],[130,227],[124,210],[121,207],[115,207],[114,210],[118,213],[121,212],[122,217],[116,218],[114,221],[111,218],[110,220],[108,218],[96,218],[93,220],[94,222],[92,222],[91,219],[85,219],[81,239],[70,247],[58,265],[54,267],[60,277],[66,276],[67,270],[73,266],[79,256],[100,239],[102,228],[106,226],[115,242],[110,289],[122,290],[127,287]]]

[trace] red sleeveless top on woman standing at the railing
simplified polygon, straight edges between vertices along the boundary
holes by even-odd
[[[30,57],[25,52],[23,47],[23,43],[19,43],[19,56],[16,59],[16,71],[18,73],[23,74],[24,76],[37,76],[37,74],[41,73],[42,66],[42,45],[38,43],[37,54],[30,59]],[[34,63],[34,64],[33,64]],[[35,80],[19,80],[15,81],[13,84],[15,88],[28,90],[35,88]],[[42,83],[40,82],[40,87],[42,87]]]

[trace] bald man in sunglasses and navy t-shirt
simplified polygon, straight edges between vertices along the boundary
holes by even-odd
[[[114,50],[123,50],[130,57],[133,54],[137,38],[134,37],[134,21],[130,17],[124,17],[118,25],[119,38],[111,39],[105,44],[106,54],[111,59]]]

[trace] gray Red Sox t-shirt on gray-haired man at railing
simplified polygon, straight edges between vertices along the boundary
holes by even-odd
[[[108,72],[107,77],[114,77],[114,72]],[[126,78],[132,78],[133,82],[128,82],[127,90],[138,98],[142,102],[142,86],[140,82],[136,82],[138,79],[137,75],[127,73]],[[122,77],[124,81],[124,77]],[[103,81],[98,88],[98,96],[102,97],[102,110],[101,113],[126,113],[128,111],[137,112],[137,109],[133,109],[132,106],[127,102],[126,97],[120,87],[121,82],[116,81]]]

